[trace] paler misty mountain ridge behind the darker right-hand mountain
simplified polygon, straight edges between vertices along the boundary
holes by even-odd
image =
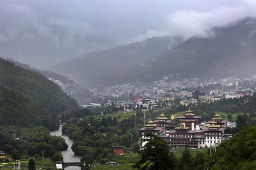
[[[141,42],[90,53],[82,58],[60,63],[47,69],[81,82],[102,74],[119,74],[154,59],[179,42],[182,42],[180,37],[152,37]]]

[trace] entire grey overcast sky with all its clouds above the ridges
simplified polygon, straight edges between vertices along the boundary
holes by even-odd
[[[0,56],[38,68],[147,37],[208,36],[254,0],[1,0]]]

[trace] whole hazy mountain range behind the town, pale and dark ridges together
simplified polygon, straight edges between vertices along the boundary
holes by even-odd
[[[210,79],[244,76],[256,71],[255,18],[245,18],[210,31],[214,36],[191,37],[182,43],[173,41],[175,43],[168,50],[164,49],[170,37],[155,37],[92,53],[87,58],[58,64],[50,70],[83,80],[84,85],[91,88],[152,82],[170,74],[175,75],[173,80]]]

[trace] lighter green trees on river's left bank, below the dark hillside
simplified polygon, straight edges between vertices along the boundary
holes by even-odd
[[[68,149],[68,145],[62,137],[50,135],[49,130],[42,126],[31,129],[2,126],[0,127],[0,149],[6,154],[11,154],[16,149],[20,155],[34,156],[44,153],[44,156],[51,157]]]

